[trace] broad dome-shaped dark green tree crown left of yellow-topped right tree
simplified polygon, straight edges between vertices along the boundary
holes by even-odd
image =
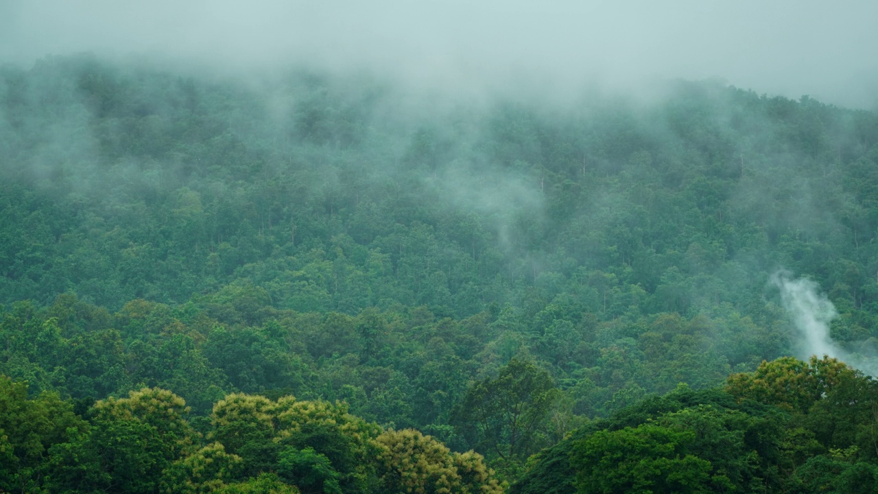
[[[577,476],[584,491],[602,483],[615,485],[607,487],[610,491],[750,492],[761,489],[759,486],[777,486],[782,427],[787,419],[781,410],[765,404],[737,403],[720,389],[694,391],[680,386],[665,396],[647,398],[610,418],[594,421],[543,450],[510,491],[572,493],[577,491]],[[649,440],[652,432],[655,437]],[[680,436],[679,432],[691,436]],[[608,447],[613,441],[618,444]],[[622,465],[640,456],[651,458],[655,464],[637,472],[630,465],[618,470],[608,465],[597,468],[600,461]],[[688,469],[691,476],[669,476],[678,469]],[[617,474],[612,473],[615,471]]]

